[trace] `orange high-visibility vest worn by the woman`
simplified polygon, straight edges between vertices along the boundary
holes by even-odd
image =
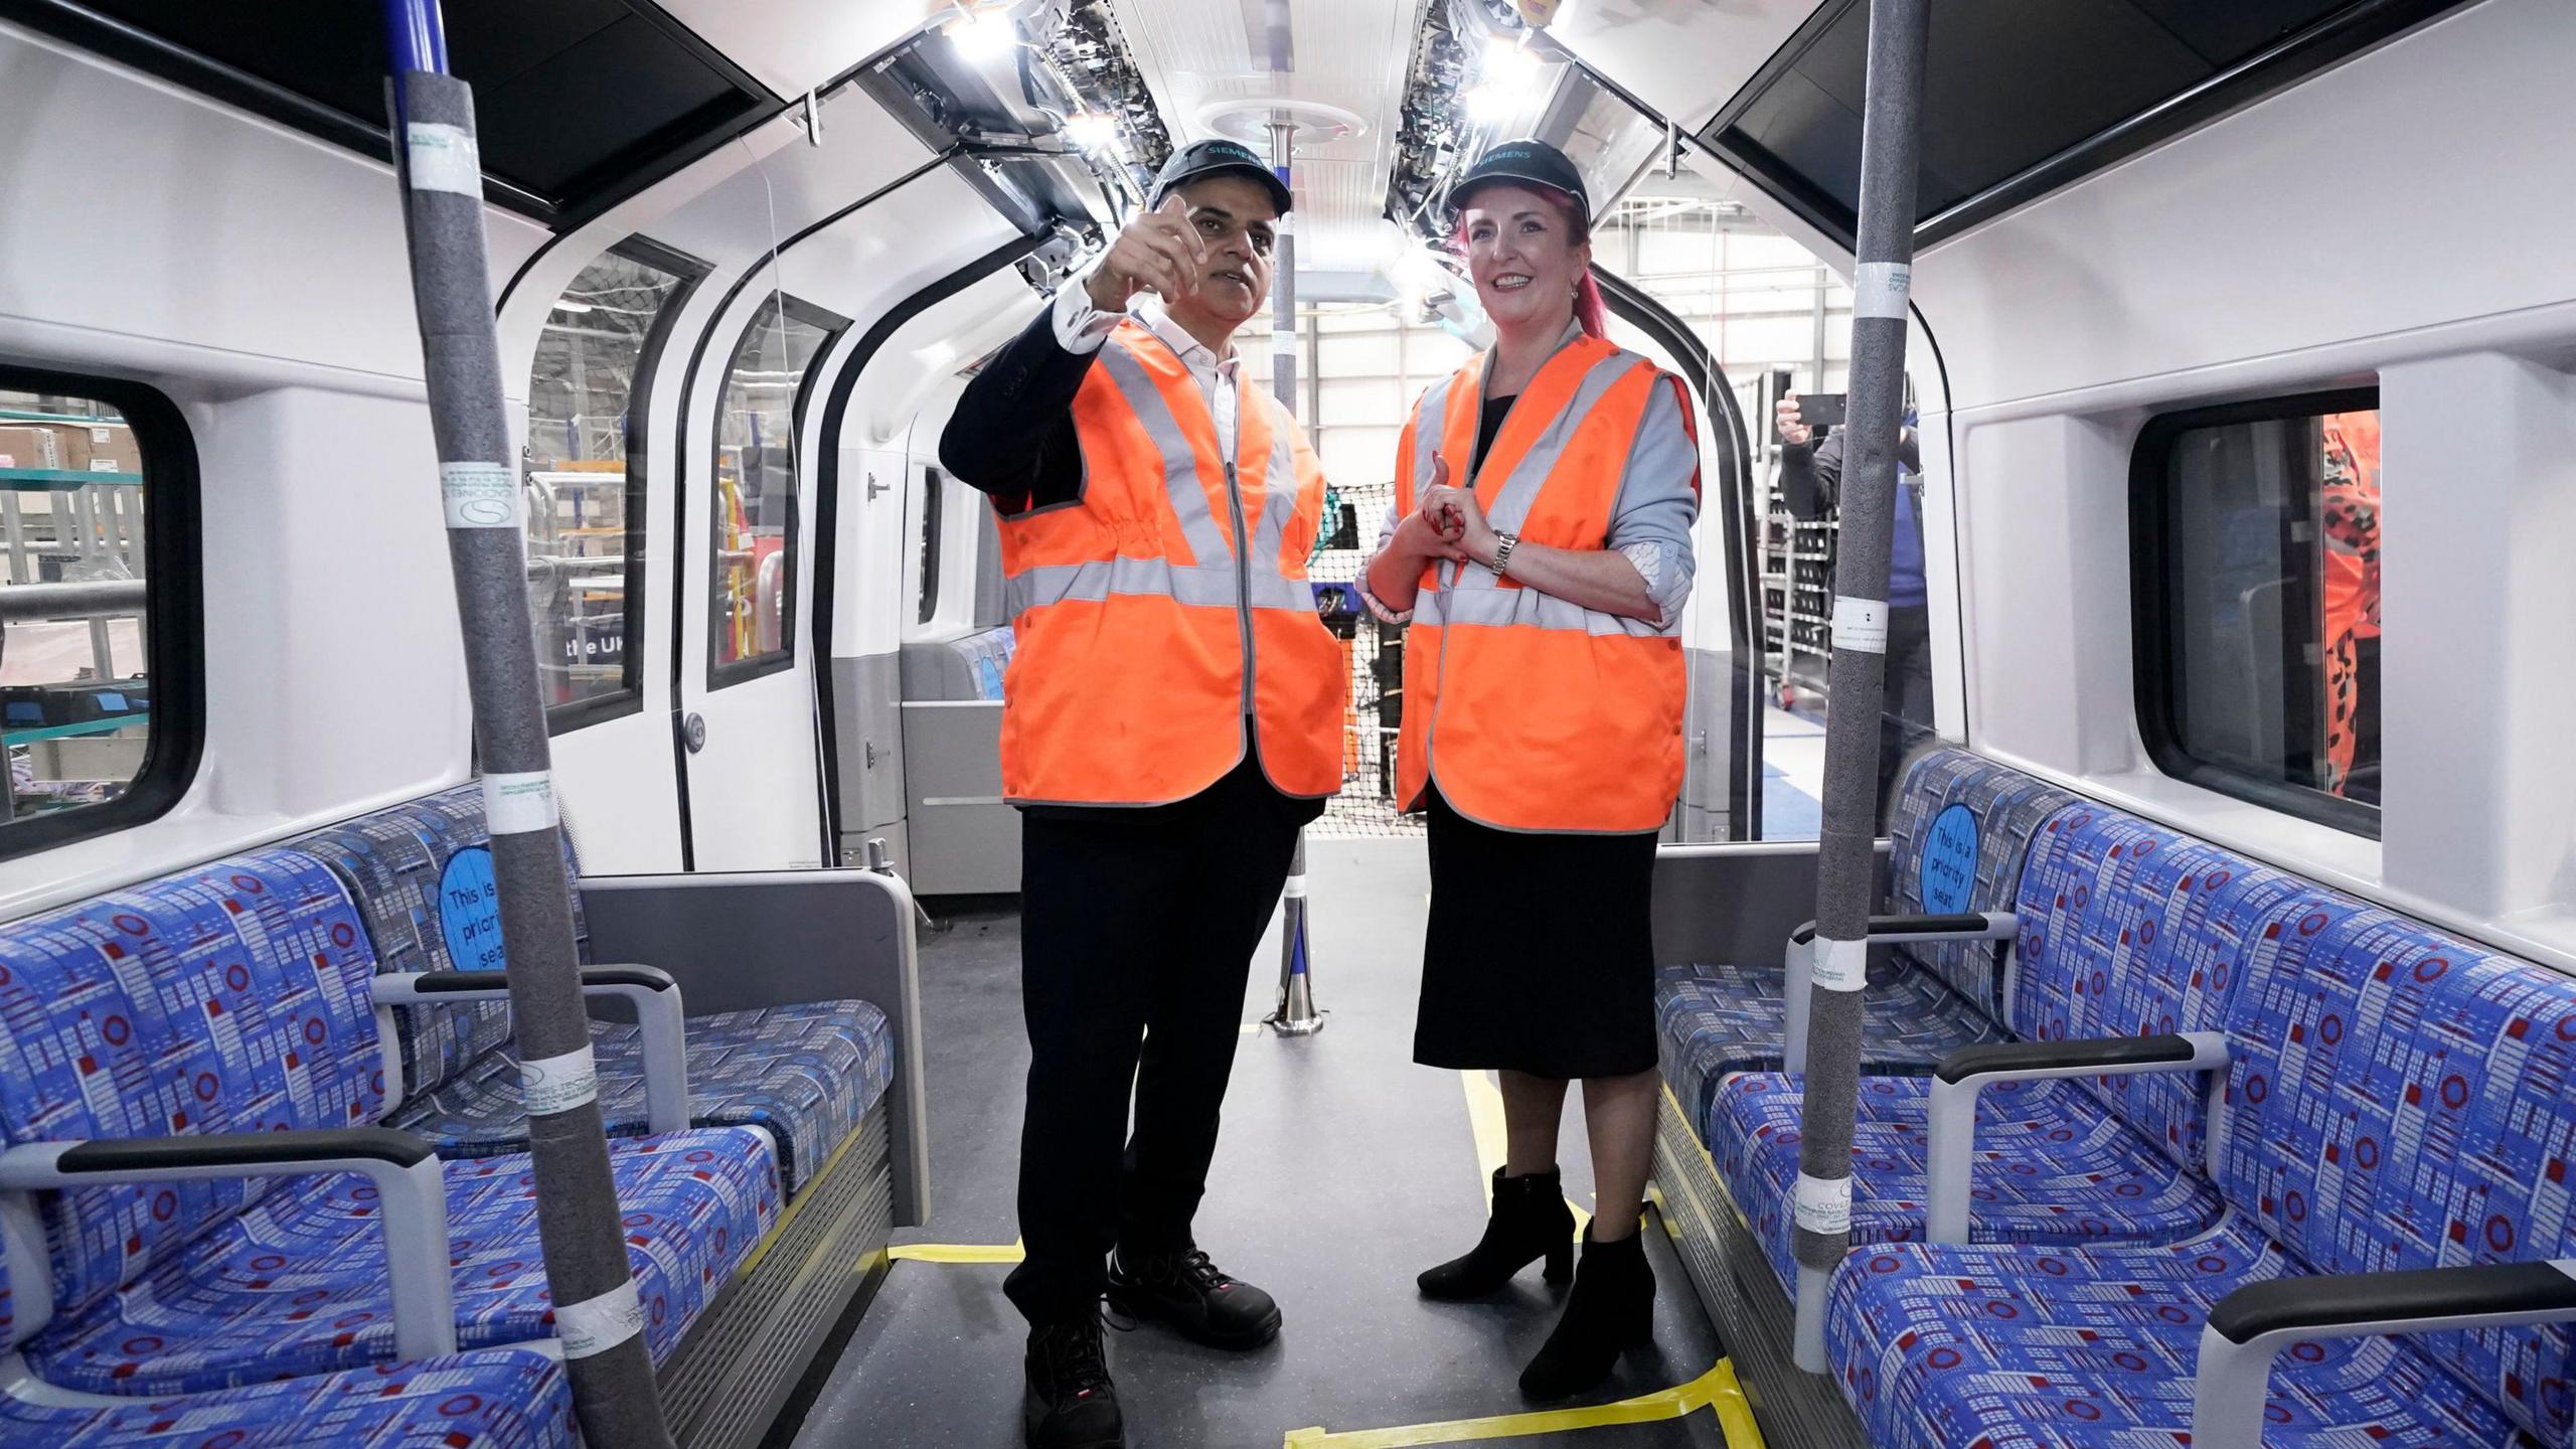
[[[1600,338],[1558,348],[1476,469],[1486,521],[1522,544],[1607,547],[1659,376]],[[1432,451],[1466,474],[1481,394],[1476,356],[1414,405],[1396,443],[1399,516],[1430,487]],[[1680,634],[1484,565],[1432,565],[1404,639],[1399,797],[1414,810],[1437,781],[1458,815],[1502,830],[1656,830],[1682,792],[1685,694]]]

